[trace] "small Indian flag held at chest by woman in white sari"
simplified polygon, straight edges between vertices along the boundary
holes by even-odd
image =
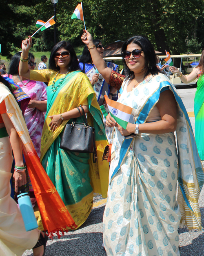
[[[111,116],[122,128],[126,129],[133,108],[123,105],[120,102],[110,100],[107,95],[104,95],[104,97]]]

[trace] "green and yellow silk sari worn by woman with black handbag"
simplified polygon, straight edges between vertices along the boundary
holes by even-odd
[[[58,85],[60,79],[55,82]],[[107,145],[102,113],[96,100],[95,92],[89,79],[82,72],[71,72],[62,85],[53,92],[47,87],[47,114],[42,131],[41,160],[42,166],[55,185],[78,227],[89,216],[93,206],[93,192],[107,196],[109,164],[102,161],[104,147]],[[87,119],[95,127],[95,144],[98,160],[93,163],[92,154],[75,153],[60,149],[62,133],[67,122],[54,132],[49,129],[49,122],[55,114],[64,113],[79,105],[88,105]],[[82,122],[81,117],[77,122]],[[40,224],[40,223],[39,223]]]

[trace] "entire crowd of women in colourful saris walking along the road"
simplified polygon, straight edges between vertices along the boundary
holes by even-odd
[[[179,225],[202,231],[198,198],[204,183],[204,53],[187,78],[169,68],[183,82],[198,77],[195,139],[199,136],[200,141],[195,143],[179,93],[162,72],[165,66],[158,67],[146,37],[124,42],[125,75],[103,59],[100,40],[85,30],[81,39],[85,46],[80,60],[72,45],[61,41],[51,51],[49,68],[42,56],[34,69],[29,36],[11,59],[8,73],[0,76],[0,255],[20,256],[31,248],[34,256],[44,255],[44,232],[51,236],[80,227],[97,192],[107,197],[103,241],[108,256],[178,256]],[[106,92],[111,100],[132,108],[134,122],[126,129],[110,113],[104,122]],[[83,112],[95,129],[95,159],[93,153],[60,147],[64,128],[84,123]],[[110,164],[102,160],[109,142]],[[11,171],[15,194],[29,186],[32,202],[37,200],[38,229],[25,231],[10,196]]]

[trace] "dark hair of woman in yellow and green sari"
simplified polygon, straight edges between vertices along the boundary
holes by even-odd
[[[69,71],[77,71],[79,70],[80,71],[80,67],[79,67],[79,62],[78,62],[78,59],[77,59],[77,56],[76,56],[76,53],[74,51],[74,48],[73,46],[67,42],[67,41],[61,41],[61,42],[58,42],[52,49],[51,51],[51,54],[50,54],[50,59],[49,59],[49,69],[52,69],[54,71],[59,71],[60,70],[60,67],[56,67],[55,65],[55,59],[54,59],[54,56],[53,54],[58,51],[60,48],[64,48],[66,49],[67,51],[69,51],[70,53],[70,56],[71,56],[71,64],[69,66]]]

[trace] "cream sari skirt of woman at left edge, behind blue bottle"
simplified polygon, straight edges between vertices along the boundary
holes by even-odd
[[[26,232],[20,209],[10,196],[12,163],[9,137],[0,138],[0,256],[21,256],[35,246],[40,232]]]

